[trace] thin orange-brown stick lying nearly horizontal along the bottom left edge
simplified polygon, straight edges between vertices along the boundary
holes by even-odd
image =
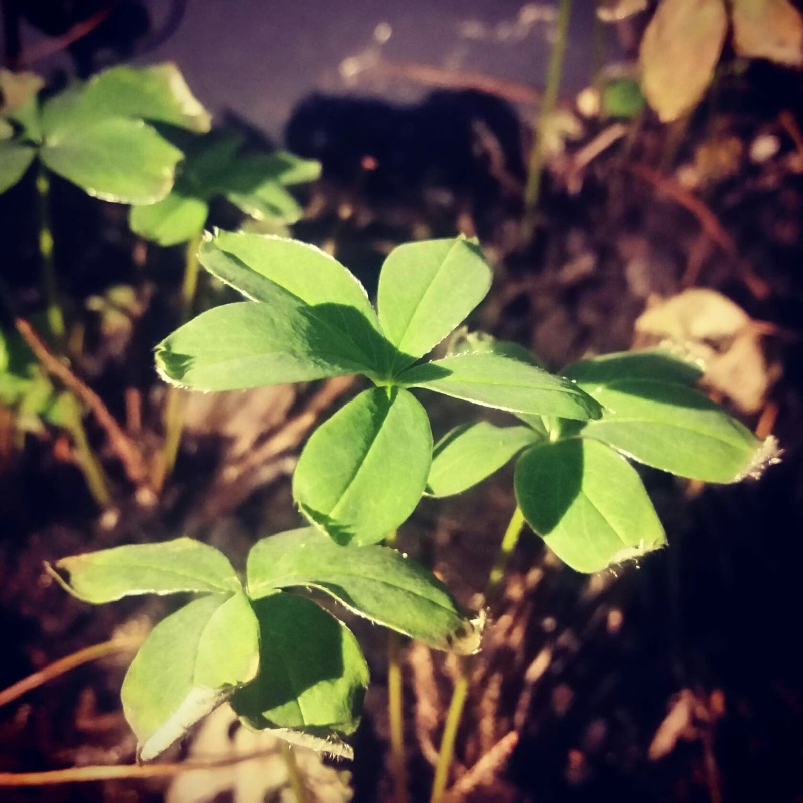
[[[172,778],[195,769],[214,769],[242,764],[263,756],[272,756],[275,748],[255,750],[241,756],[225,756],[206,761],[184,761],[181,764],[125,764],[124,766],[70,767],[48,772],[0,772],[2,786],[52,786],[88,781],[143,781],[149,778]]]

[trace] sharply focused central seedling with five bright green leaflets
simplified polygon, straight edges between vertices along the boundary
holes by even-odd
[[[422,360],[491,285],[482,251],[465,238],[397,247],[376,310],[345,267],[294,240],[221,232],[199,259],[249,300],[203,312],[163,340],[156,361],[166,381],[218,391],[359,373],[375,385],[312,434],[293,478],[301,512],[340,544],[381,541],[422,497],[432,434],[410,389],[522,415],[601,416],[577,384],[502,353]]]

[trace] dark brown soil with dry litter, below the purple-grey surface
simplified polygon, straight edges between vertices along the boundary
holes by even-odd
[[[647,473],[670,547],[616,573],[581,577],[556,565],[535,536],[524,537],[504,600],[491,611],[458,757],[471,767],[514,728],[520,740],[507,769],[475,789],[473,800],[803,800],[803,141],[779,122],[793,105],[789,98],[801,95],[775,73],[740,80],[724,88],[715,108],[701,108],[686,132],[636,124],[578,170],[577,153],[605,128],[585,122],[581,140],[552,162],[538,234],[524,250],[516,238],[523,145],[503,102],[438,95],[408,110],[401,125],[398,110],[376,104],[369,136],[359,125],[365,108],[313,100],[296,119],[304,126],[291,126],[291,133],[300,130],[290,141],[297,149],[315,125],[334,143],[322,154],[324,181],[308,198],[312,218],[295,236],[333,241],[370,288],[394,243],[476,232],[496,281],[474,324],[532,347],[550,369],[585,353],[630,348],[648,298],[672,296],[688,283],[722,291],[772,324],[764,326],[762,345],[780,368],[767,402],[777,408],[781,466],[757,483],[702,489]],[[478,121],[494,157],[475,147]],[[781,149],[756,163],[748,149],[759,135],[777,137]],[[727,141],[739,147],[728,151]],[[732,253],[666,192],[666,181],[677,184],[677,169],[694,161],[703,143],[722,158],[695,162],[703,165],[696,197],[732,238]],[[365,170],[365,156],[374,157],[376,170]],[[634,165],[648,165],[664,183]],[[26,312],[39,304],[31,203],[31,181],[0,198],[2,274]],[[153,451],[162,391],[150,349],[173,325],[181,251],[145,252],[128,234],[123,209],[68,185],[55,182],[54,204],[65,296],[79,305],[113,284],[137,287],[141,308],[130,328],[110,332],[96,314],[82,313],[88,357],[77,368],[120,420],[126,389],[139,393],[140,438]],[[227,210],[217,214],[216,222],[232,222]],[[215,292],[205,287],[202,303]],[[287,454],[249,469],[236,494],[224,468],[240,465],[264,431],[283,426],[314,393],[264,393],[251,399],[254,414],[234,421],[230,402],[207,399],[191,414],[177,470],[156,505],[137,503],[108,459],[118,483],[116,522],[98,519],[57,434],[27,438],[22,453],[2,450],[0,686],[104,641],[131,618],[157,618],[171,604],[135,599],[90,608],[45,580],[43,560],[187,532],[242,566],[254,540],[293,526]],[[437,436],[459,407],[434,402],[432,414]],[[100,432],[92,436],[103,449]],[[434,565],[463,601],[483,587],[512,512],[510,479],[503,472],[464,497],[422,503],[402,531],[402,548]],[[384,640],[355,627],[374,687],[357,737],[354,788],[358,800],[373,801],[389,789]],[[418,648],[409,657],[410,775],[418,801],[430,784],[428,745],[439,740],[431,722],[442,722],[450,666]],[[124,659],[97,662],[5,707],[0,770],[132,761],[120,713],[123,674]],[[133,803],[161,800],[164,787],[137,781],[3,789],[0,800]]]

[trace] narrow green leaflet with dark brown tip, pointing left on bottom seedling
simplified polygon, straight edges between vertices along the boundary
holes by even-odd
[[[240,588],[222,552],[186,537],[101,549],[46,566],[69,593],[94,604],[132,594],[221,593]]]

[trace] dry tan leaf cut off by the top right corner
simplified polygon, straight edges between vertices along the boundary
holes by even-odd
[[[733,0],[733,46],[739,55],[803,66],[803,16],[789,0]]]

